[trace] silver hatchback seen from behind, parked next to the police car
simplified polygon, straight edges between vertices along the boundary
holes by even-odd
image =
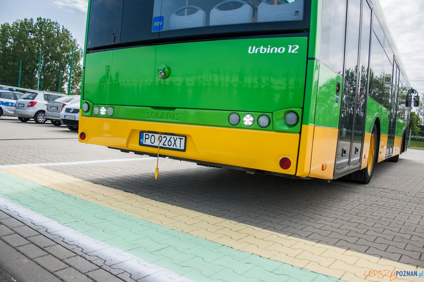
[[[34,119],[36,123],[43,124],[47,121],[45,114],[47,102],[54,101],[61,96],[67,95],[27,91],[24,96],[16,101],[13,112],[21,122],[28,122],[30,119]]]

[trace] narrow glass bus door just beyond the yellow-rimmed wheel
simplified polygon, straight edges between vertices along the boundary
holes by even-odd
[[[398,88],[399,88],[399,68],[397,67],[396,61],[393,63],[393,72],[396,72],[396,75],[393,75],[393,88],[392,95],[390,100],[390,113],[388,114],[388,137],[387,137],[387,149],[386,149],[386,158],[389,158],[393,155],[393,143],[395,139],[396,132],[396,112],[397,112],[397,97],[398,97]]]

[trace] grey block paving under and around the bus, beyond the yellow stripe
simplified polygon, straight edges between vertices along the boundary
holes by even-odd
[[[0,165],[140,158],[77,140],[60,140],[62,149],[48,155],[34,148],[59,143],[0,142],[8,149]],[[64,147],[72,147],[73,154],[64,155]],[[28,154],[32,155],[25,159]],[[154,158],[45,168],[279,234],[423,267],[423,164],[424,151],[408,150],[399,163],[377,164],[368,185],[287,180],[162,158],[156,181]]]

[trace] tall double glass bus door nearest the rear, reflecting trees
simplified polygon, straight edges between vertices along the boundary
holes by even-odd
[[[361,166],[370,30],[371,8],[367,2],[349,0],[335,176]]]

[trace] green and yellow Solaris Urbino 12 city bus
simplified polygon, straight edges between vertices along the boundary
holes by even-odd
[[[80,142],[364,183],[405,150],[378,0],[91,0],[86,27]]]

